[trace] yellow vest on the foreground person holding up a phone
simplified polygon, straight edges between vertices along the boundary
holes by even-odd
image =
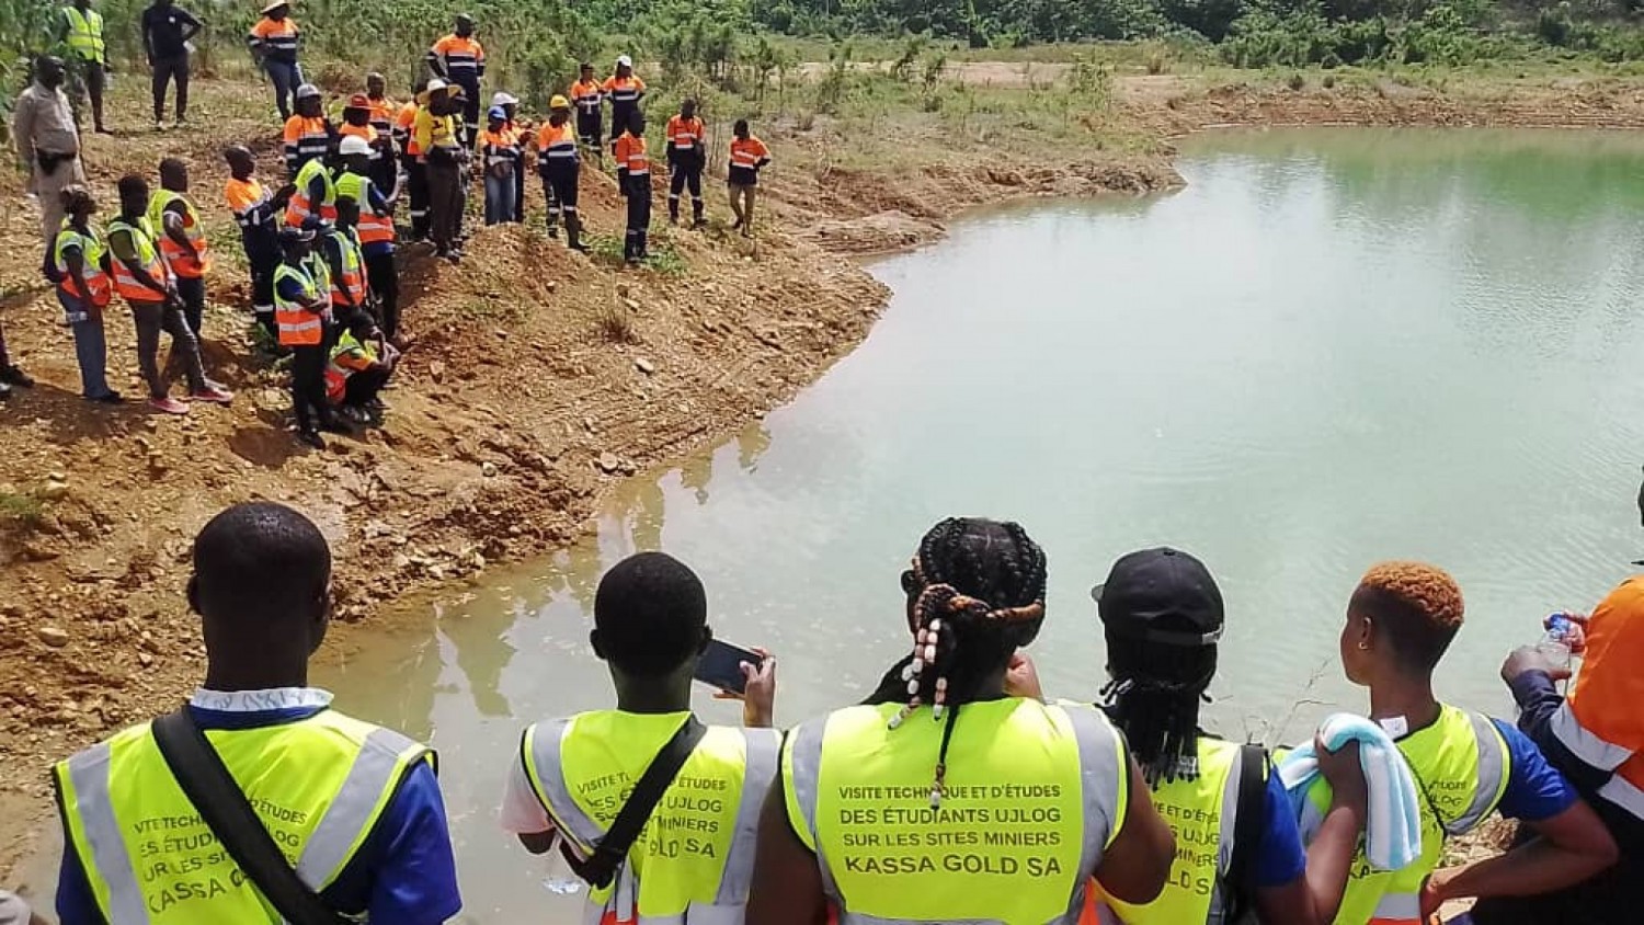
[[[582,856],[689,713],[597,710],[524,731],[521,761],[554,826]],[[584,922],[740,925],[753,881],[760,807],[776,780],[774,729],[709,726],[616,881],[589,895]]]

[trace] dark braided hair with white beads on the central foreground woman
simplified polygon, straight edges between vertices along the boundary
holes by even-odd
[[[983,683],[1039,634],[1044,588],[1044,550],[1028,531],[980,518],[949,518],[934,526],[919,542],[912,568],[903,573],[914,651],[886,675],[886,682],[901,680],[907,698],[889,726],[896,729],[926,703],[937,721],[945,713],[932,807],[942,803],[958,708],[990,695]],[[886,693],[883,688],[881,682]]]

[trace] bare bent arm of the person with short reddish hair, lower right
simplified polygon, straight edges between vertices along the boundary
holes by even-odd
[[[1422,915],[1452,899],[1537,895],[1578,884],[1621,858],[1609,830],[1586,803],[1540,821],[1540,838],[1465,867],[1437,871],[1422,886]]]

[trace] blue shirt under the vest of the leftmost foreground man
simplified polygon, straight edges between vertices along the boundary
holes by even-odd
[[[189,706],[202,729],[260,729],[306,720],[327,706],[248,711]],[[367,913],[372,922],[393,925],[437,925],[457,915],[462,895],[446,802],[432,767],[418,762],[406,774],[360,851],[321,895],[347,915]],[[72,846],[62,849],[58,918],[62,925],[109,925]]]

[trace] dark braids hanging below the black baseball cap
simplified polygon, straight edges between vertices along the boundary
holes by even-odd
[[[1157,628],[1177,629],[1169,619]],[[1164,646],[1113,633],[1106,642],[1113,680],[1101,695],[1148,785],[1198,777],[1198,705],[1217,674],[1217,647]]]

